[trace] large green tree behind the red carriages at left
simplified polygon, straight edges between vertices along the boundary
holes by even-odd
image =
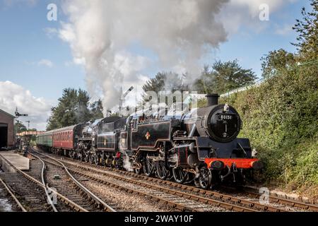
[[[52,107],[52,115],[48,119],[47,130],[90,121],[88,101],[90,97],[85,90],[64,89],[57,107]]]

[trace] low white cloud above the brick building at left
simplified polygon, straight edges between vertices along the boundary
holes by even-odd
[[[20,113],[28,114],[20,121],[30,120],[30,127],[45,130],[51,105],[42,97],[34,97],[29,90],[11,81],[0,81],[0,109],[14,114],[16,107]]]

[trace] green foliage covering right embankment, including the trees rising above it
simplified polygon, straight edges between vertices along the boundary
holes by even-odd
[[[240,136],[257,148],[266,179],[291,189],[318,185],[317,3],[312,0],[312,13],[302,8],[303,21],[295,25],[299,52],[269,52],[262,58],[265,82],[221,100],[240,113]]]

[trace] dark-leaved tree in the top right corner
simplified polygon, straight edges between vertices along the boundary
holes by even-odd
[[[298,47],[300,57],[305,60],[318,59],[318,0],[311,0],[312,11],[307,13],[302,8],[302,20],[296,20],[293,30],[298,32]]]

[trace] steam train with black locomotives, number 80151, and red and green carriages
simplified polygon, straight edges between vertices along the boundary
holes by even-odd
[[[242,183],[261,163],[252,157],[249,139],[237,138],[242,128],[237,111],[218,105],[218,95],[206,97],[206,107],[187,113],[153,116],[143,111],[128,118],[107,117],[43,133],[37,144],[96,165],[180,184],[193,181],[203,189],[223,181]]]

